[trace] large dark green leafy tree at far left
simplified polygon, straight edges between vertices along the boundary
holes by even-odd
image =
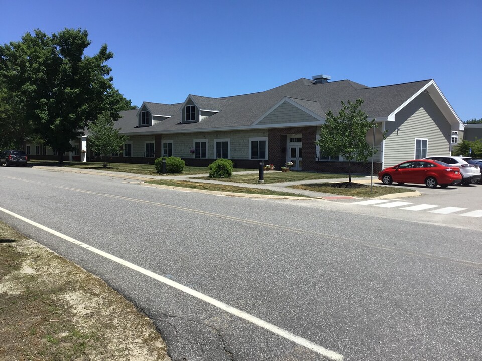
[[[70,141],[100,114],[117,120],[135,108],[112,84],[113,53],[103,44],[87,56],[89,45],[87,30],[66,28],[51,36],[36,29],[0,47],[0,123],[12,127],[11,142],[39,138],[62,162]]]

